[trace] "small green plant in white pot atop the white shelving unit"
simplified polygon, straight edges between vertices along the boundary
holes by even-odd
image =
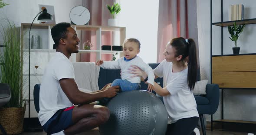
[[[106,5],[109,12],[112,14],[113,18],[108,19],[108,26],[117,26],[117,19],[115,19],[115,15],[121,11],[121,7],[118,3],[114,3],[112,6]]]

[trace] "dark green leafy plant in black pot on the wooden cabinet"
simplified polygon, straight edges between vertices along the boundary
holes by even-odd
[[[245,24],[243,25],[236,25],[234,22],[233,26],[228,26],[228,32],[230,33],[230,40],[234,42],[235,47],[233,47],[233,54],[238,55],[240,51],[240,47],[237,47],[237,40],[240,34],[243,32]]]

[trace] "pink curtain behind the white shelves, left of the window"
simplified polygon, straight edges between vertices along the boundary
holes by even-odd
[[[82,0],[82,5],[85,6],[91,13],[91,19],[89,21],[89,25],[94,26],[107,26],[108,19],[112,18],[109,13],[106,4],[112,5],[115,0]],[[82,45],[86,40],[89,40],[93,47],[91,50],[99,50],[97,48],[97,40],[96,40],[96,31],[82,31],[82,39],[81,39],[81,49]],[[102,45],[111,45],[112,44],[112,32],[102,32]],[[96,52],[81,54],[80,61],[96,61]],[[78,56],[79,57],[79,56]],[[111,54],[102,55],[102,59],[105,61],[111,61]]]

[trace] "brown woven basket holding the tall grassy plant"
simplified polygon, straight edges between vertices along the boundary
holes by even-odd
[[[26,106],[22,108],[0,108],[0,124],[8,135],[23,132],[23,120]],[[0,132],[2,135],[2,132]]]

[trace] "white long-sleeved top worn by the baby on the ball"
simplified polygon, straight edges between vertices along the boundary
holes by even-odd
[[[131,65],[136,65],[144,70],[148,74],[148,83],[154,86],[154,72],[152,68],[145,63],[142,58],[136,56],[135,58],[131,59],[130,61],[125,61],[124,57],[119,58],[117,61],[104,61],[101,64],[101,67],[104,69],[121,69],[122,80],[128,80],[131,83],[141,83],[140,77],[131,77],[134,74],[131,74],[129,68]]]

